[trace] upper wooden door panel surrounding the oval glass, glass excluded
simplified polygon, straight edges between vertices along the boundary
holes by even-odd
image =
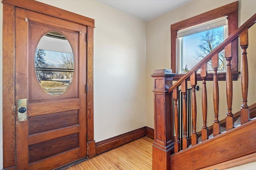
[[[29,13],[30,14],[30,13]],[[70,31],[60,29],[58,27],[53,27],[52,25],[44,25],[38,22],[29,22],[29,42],[30,42],[30,58],[29,58],[29,101],[32,102],[42,102],[42,101],[55,101],[56,99],[68,99],[68,98],[78,98],[78,35],[77,31]],[[35,72],[35,59],[34,55],[36,53],[36,47],[40,39],[48,32],[58,31],[62,33],[69,41],[73,54],[74,54],[74,76],[72,82],[62,95],[50,96],[47,94],[40,86]]]

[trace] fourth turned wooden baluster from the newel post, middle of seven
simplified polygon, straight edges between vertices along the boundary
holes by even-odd
[[[203,126],[202,126],[202,141],[209,138],[207,123],[207,92],[206,92],[206,78],[207,78],[207,63],[202,65],[200,76],[202,78],[202,112],[203,112]]]

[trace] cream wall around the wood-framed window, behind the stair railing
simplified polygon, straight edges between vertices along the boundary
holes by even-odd
[[[156,69],[161,68],[171,68],[171,35],[170,35],[170,25],[178,21],[185,20],[192,16],[202,14],[209,10],[213,10],[220,6],[224,6],[235,0],[195,0],[186,4],[178,9],[175,9],[171,12],[168,12],[154,20],[148,21],[146,23],[146,126],[154,128],[154,107],[153,107],[153,78],[150,74],[153,73]],[[238,5],[238,27],[242,25],[246,20],[248,20],[253,14],[255,14],[256,1],[252,0],[240,0]],[[255,30],[255,29],[254,29]],[[249,35],[250,36],[250,35]],[[255,37],[255,34],[254,34]],[[250,39],[250,38],[249,38]],[[251,38],[253,39],[253,38]],[[255,44],[255,43],[254,43]],[[249,53],[250,52],[250,53]],[[255,54],[255,50],[248,48],[248,54]],[[238,58],[240,58],[240,52],[238,52]],[[253,73],[256,71],[255,68],[255,59],[249,59],[249,71],[253,76]],[[240,70],[240,61],[238,63],[238,69]],[[251,66],[251,67],[250,67]],[[251,77],[249,79],[249,95],[248,103],[255,103],[254,96],[256,95],[256,88],[253,85],[255,78]],[[189,83],[188,83],[189,84]],[[202,82],[198,81],[198,85],[202,89]],[[250,86],[251,85],[251,86]],[[220,86],[220,112],[219,119],[224,119],[226,115],[226,85],[225,82],[219,82]],[[212,103],[212,82],[207,82],[207,91],[208,91],[208,102]],[[236,82],[233,82],[233,98],[241,98],[241,81],[240,79]],[[202,106],[199,105],[201,100],[202,91],[196,92],[197,104],[198,104],[198,113],[201,113]],[[232,112],[236,113],[242,104],[241,100],[233,100]],[[198,115],[199,117],[200,115]],[[202,116],[201,116],[202,117]],[[208,104],[208,126],[212,125],[214,120],[214,112],[212,104]],[[202,121],[200,121],[202,123]],[[200,131],[202,125],[197,123],[197,131]]]

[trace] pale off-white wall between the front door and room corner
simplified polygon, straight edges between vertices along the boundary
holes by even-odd
[[[94,0],[40,0],[95,20],[94,139],[145,126],[146,22]]]

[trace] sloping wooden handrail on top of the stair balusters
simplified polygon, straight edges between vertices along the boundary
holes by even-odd
[[[256,23],[256,14],[254,14],[249,20],[247,20],[241,27],[239,27],[236,31],[234,31],[234,33],[232,33],[225,41],[223,41],[218,47],[216,47],[210,54],[208,54],[204,59],[202,59],[199,63],[197,63],[191,70],[189,70],[186,74],[184,74],[184,76],[182,76],[182,78],[180,78],[176,83],[173,84],[173,86],[171,86],[168,89],[168,92],[172,92],[172,90],[174,90],[176,87],[180,86],[180,84],[188,79],[194,72],[196,72],[198,69],[200,69],[202,67],[203,64],[207,63],[208,61],[210,61],[210,59],[212,59],[212,57],[216,54],[216,53],[220,53],[224,47],[226,47],[226,45],[228,45],[229,43],[233,42],[235,39],[237,39],[240,35],[240,33],[242,33],[245,29],[250,28],[252,25],[254,25],[254,23]]]

